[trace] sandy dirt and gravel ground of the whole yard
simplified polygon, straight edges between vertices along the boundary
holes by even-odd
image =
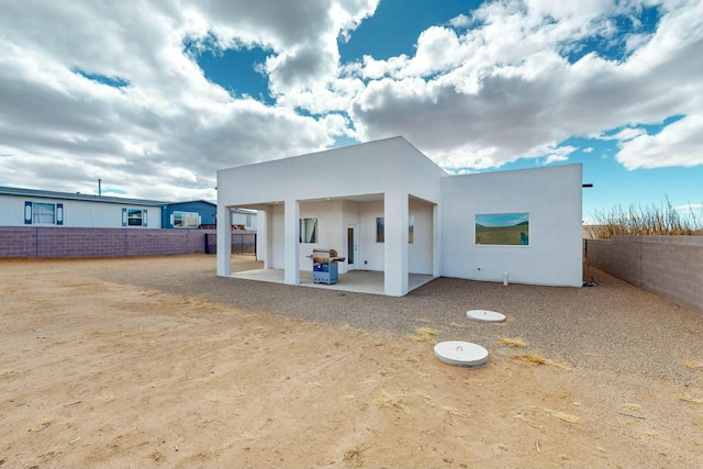
[[[438,279],[389,299],[214,268],[0,260],[0,467],[703,467],[703,316],[610,276],[591,289]],[[469,322],[470,298],[509,321]],[[440,332],[293,314],[325,302]],[[482,368],[433,355],[471,337],[490,351]]]

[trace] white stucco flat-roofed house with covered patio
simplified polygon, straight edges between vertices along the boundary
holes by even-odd
[[[314,248],[339,273],[383,272],[581,287],[581,165],[449,175],[403,137],[217,171],[217,275],[233,208],[258,211],[258,255],[298,284]]]

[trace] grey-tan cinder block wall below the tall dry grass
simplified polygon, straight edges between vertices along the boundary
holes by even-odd
[[[587,239],[589,264],[703,314],[703,236]]]

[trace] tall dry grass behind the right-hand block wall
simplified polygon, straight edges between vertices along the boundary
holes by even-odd
[[[691,205],[682,212],[666,199],[661,206],[621,205],[610,212],[596,211],[595,224],[589,227],[591,237],[610,239],[612,236],[701,236],[703,235],[703,210],[696,212]]]

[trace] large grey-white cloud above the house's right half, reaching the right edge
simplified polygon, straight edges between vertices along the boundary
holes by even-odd
[[[703,18],[702,4],[665,2],[657,31],[632,38],[615,34],[613,18],[635,18],[638,2],[483,3],[470,20],[449,22],[475,25],[461,35],[433,27],[413,57],[365,58],[370,81],[350,115],[361,139],[402,134],[444,166],[484,168],[570,136],[691,113],[703,96],[703,25],[691,21]],[[570,62],[585,38],[620,41],[629,55]]]

